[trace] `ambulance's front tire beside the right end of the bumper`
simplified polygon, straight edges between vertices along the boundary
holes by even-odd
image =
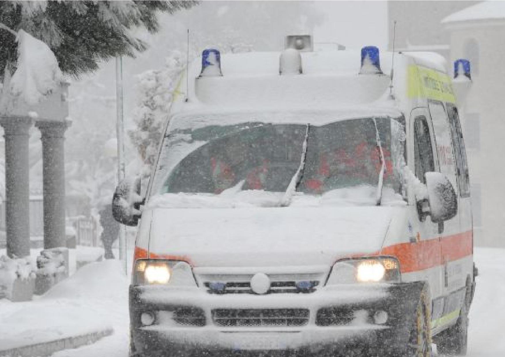
[[[431,357],[431,302],[426,288],[421,292],[416,308],[414,323],[411,327],[408,357]]]

